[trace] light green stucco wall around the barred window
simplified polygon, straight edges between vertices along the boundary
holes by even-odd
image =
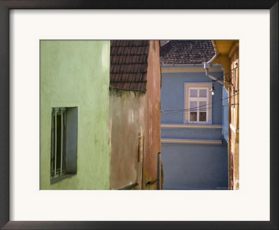
[[[40,41],[40,189],[109,189],[110,41]],[[78,107],[77,174],[50,184],[52,107]]]

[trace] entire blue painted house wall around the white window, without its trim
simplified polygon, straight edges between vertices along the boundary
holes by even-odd
[[[220,67],[220,66],[217,66]],[[173,67],[175,68],[175,67]],[[180,67],[181,68],[181,67]],[[185,67],[184,67],[185,68]],[[191,69],[193,67],[188,66]],[[223,71],[210,71],[216,78]],[[162,73],[161,110],[182,110],[184,105],[184,83],[209,82],[205,71],[184,73]],[[227,189],[228,187],[228,108],[224,87],[214,83],[212,96],[212,124],[222,129],[211,128],[161,128],[161,138],[190,140],[222,140],[222,145],[162,143],[164,171],[163,189]],[[168,114],[167,114],[168,113]],[[225,117],[224,117],[225,115]],[[162,124],[183,124],[183,113],[162,113]]]

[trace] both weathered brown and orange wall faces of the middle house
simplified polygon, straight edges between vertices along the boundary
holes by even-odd
[[[146,78],[146,92],[110,89],[110,189],[157,189],[146,183],[157,180],[160,152],[159,41],[150,41]]]

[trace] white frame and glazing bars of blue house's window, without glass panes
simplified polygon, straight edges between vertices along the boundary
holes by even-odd
[[[197,97],[190,96],[191,89],[197,89]],[[205,89],[206,90],[206,97],[199,97],[199,90]],[[190,124],[208,124],[209,123],[209,88],[208,87],[188,87],[188,95],[186,100],[188,101],[188,108],[186,108],[188,113],[188,123]],[[193,110],[190,110],[190,101],[197,101],[197,120],[191,121],[190,120],[190,112],[193,112]],[[206,121],[199,121],[199,113],[204,111],[199,111],[199,102],[205,101],[206,102]]]

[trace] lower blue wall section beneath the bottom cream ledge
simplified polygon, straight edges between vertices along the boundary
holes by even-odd
[[[225,145],[162,144],[163,189],[227,189]]]

